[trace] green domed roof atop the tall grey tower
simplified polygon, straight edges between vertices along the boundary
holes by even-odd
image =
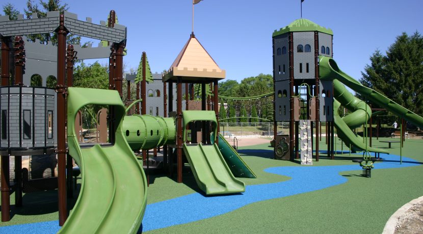
[[[288,24],[288,26],[280,28],[280,30],[275,30],[272,37],[285,34],[288,32],[309,32],[309,31],[318,31],[326,34],[333,35],[333,32],[330,28],[322,27],[319,24],[314,23],[308,19],[296,19],[294,22]]]

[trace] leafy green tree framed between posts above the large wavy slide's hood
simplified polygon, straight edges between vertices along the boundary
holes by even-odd
[[[73,71],[73,86],[107,90],[109,88],[107,69],[98,62],[90,66],[81,63]]]

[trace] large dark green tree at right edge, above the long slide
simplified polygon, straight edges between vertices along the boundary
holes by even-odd
[[[376,50],[370,61],[361,73],[363,85],[415,113],[423,113],[423,37],[418,32],[396,37],[386,55]]]

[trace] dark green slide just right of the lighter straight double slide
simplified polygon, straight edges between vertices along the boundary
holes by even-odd
[[[218,134],[219,139],[219,150],[222,154],[223,158],[226,161],[226,164],[229,166],[230,171],[235,177],[242,177],[242,178],[257,178],[254,172],[248,167],[248,165],[244,162],[244,160],[240,157],[240,155],[233,149],[233,147],[229,144],[228,141],[222,136],[222,134]],[[213,136],[211,137],[214,138]],[[212,143],[214,143],[212,141]]]

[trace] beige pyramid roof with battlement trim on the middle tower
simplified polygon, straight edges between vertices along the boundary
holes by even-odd
[[[197,38],[191,35],[168,72],[163,75],[163,81],[175,81],[177,77],[181,77],[182,81],[211,82],[214,79],[224,79],[225,76],[225,70],[219,68]]]

